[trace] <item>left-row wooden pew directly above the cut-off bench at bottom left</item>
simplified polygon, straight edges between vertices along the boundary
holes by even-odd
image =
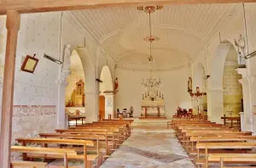
[[[12,152],[22,153],[22,154],[44,154],[58,156],[58,159],[63,158],[64,168],[68,168],[67,159],[76,156],[77,153],[73,149],[67,148],[40,148],[40,147],[23,147],[23,146],[12,146]]]

